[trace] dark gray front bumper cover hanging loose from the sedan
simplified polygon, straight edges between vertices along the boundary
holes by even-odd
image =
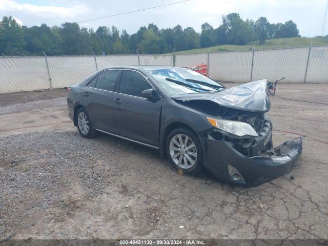
[[[267,156],[247,157],[226,141],[206,138],[206,144],[204,167],[223,181],[243,186],[257,186],[290,173],[303,148],[302,138],[299,137],[272,149]],[[236,168],[244,181],[231,179],[228,165]]]

